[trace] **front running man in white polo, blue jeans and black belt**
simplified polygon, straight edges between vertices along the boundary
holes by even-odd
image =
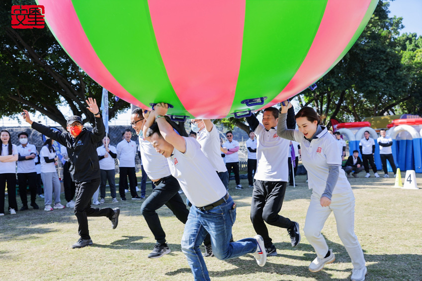
[[[150,114],[146,138],[158,153],[167,158],[171,175],[180,183],[192,203],[181,241],[195,281],[209,281],[208,270],[199,249],[206,232],[211,235],[213,254],[220,260],[254,253],[258,265],[266,262],[262,237],[230,242],[236,220],[236,204],[215,172],[200,144],[193,138],[176,134],[165,115],[168,105],[159,103]],[[157,123],[154,123],[154,117]]]

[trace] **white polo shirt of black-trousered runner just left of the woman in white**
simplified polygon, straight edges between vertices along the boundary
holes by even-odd
[[[261,123],[256,127],[255,135],[258,147],[257,168],[253,178],[259,181],[287,182],[290,141],[277,136],[277,127],[267,131]]]

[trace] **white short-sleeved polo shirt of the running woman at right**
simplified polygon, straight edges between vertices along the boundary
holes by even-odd
[[[328,165],[338,166],[338,181],[333,194],[348,192],[351,187],[344,170],[341,169],[341,156],[338,154],[336,139],[328,133],[327,128],[311,142],[304,138],[299,130],[294,130],[294,140],[300,142],[302,163],[308,171],[308,186],[314,193],[321,196],[327,185]]]

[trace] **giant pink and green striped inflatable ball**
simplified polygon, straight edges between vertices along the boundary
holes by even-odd
[[[244,116],[290,98],[351,48],[378,0],[37,0],[92,79],[175,119]]]

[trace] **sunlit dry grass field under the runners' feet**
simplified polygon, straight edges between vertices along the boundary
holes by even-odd
[[[382,173],[381,173],[382,174]],[[355,232],[362,245],[368,281],[422,280],[422,189],[392,188],[394,179],[352,178],[356,198]],[[402,173],[404,176],[405,173]],[[296,177],[297,187],[288,187],[280,214],[299,222],[301,243],[292,248],[285,229],[268,226],[278,255],[258,267],[252,254],[220,261],[206,258],[211,280],[215,281],[328,281],[349,280],[352,265],[337,235],[334,215],[323,229],[336,261],[319,273],[308,271],[315,258],[313,248],[303,236],[302,227],[311,191],[306,176]],[[422,188],[422,175],[417,175]],[[242,180],[243,190],[231,181],[229,192],[237,202],[236,239],[255,235],[250,220],[252,188]],[[147,184],[147,195],[151,185]],[[171,253],[148,259],[155,240],[140,214],[143,201],[111,203],[107,192],[101,207],[120,207],[119,225],[111,229],[104,217],[89,220],[91,247],[71,249],[78,240],[77,220],[73,210],[18,211],[0,217],[0,280],[98,280],[98,281],[190,281],[193,280],[186,259],[180,251],[183,224],[167,209],[158,212],[167,233]],[[130,196],[129,196],[130,198]],[[184,198],[184,197],[183,197]],[[19,200],[19,199],[18,199]],[[37,204],[43,206],[43,199]],[[62,203],[66,203],[64,198]],[[7,199],[6,199],[7,208]],[[19,208],[21,207],[18,201]],[[204,250],[204,249],[203,249]]]

